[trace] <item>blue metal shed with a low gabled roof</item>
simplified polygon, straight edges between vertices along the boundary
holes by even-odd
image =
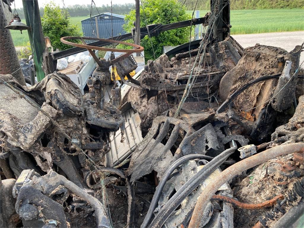
[[[98,26],[96,26],[96,19]],[[107,39],[112,36],[112,20],[113,20],[113,36],[126,34],[123,30],[125,16],[119,14],[102,13],[84,19],[81,21],[83,36],[97,37],[97,27],[99,38]]]

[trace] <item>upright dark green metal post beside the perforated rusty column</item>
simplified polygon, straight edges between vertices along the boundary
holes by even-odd
[[[43,52],[45,50],[45,41],[41,26],[39,6],[37,0],[22,0],[26,25],[31,27],[27,30],[29,33],[29,42],[31,44],[33,59],[36,69],[37,81],[41,81],[45,74],[42,69]]]

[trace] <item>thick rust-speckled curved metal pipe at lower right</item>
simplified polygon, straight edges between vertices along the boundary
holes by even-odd
[[[214,181],[207,185],[207,187],[204,189],[204,191],[199,196],[198,201],[196,202],[189,227],[199,227],[201,223],[201,218],[203,215],[203,212],[212,198],[212,196],[215,194],[217,189],[219,189],[220,186],[222,186],[227,181],[231,180],[233,177],[235,177],[237,174],[252,168],[254,166],[257,166],[265,161],[268,161],[274,157],[291,154],[295,152],[304,151],[304,143],[291,143],[291,144],[282,144],[276,147],[272,147],[268,150],[264,150],[263,152],[259,154],[255,154],[251,157],[248,157],[242,161],[239,161],[232,166],[225,169],[223,172],[221,172],[219,175],[214,177]]]

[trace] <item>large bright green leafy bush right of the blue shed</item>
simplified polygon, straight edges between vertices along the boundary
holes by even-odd
[[[140,27],[145,27],[149,24],[169,24],[178,21],[191,19],[191,16],[186,13],[185,7],[176,0],[142,0],[140,7]],[[130,33],[134,27],[135,9],[131,10],[129,15],[126,15],[124,29]],[[192,26],[194,27],[194,26]],[[180,45],[189,41],[190,28],[179,28],[160,33],[158,36],[145,36],[140,45],[144,47],[145,58],[154,60],[162,54],[163,46]],[[153,48],[152,48],[153,46]],[[154,51],[154,52],[153,52]]]

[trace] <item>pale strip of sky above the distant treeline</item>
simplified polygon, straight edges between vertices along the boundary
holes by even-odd
[[[56,4],[60,5],[60,7],[63,7],[63,2],[66,6],[68,5],[91,5],[91,0],[52,0]],[[46,3],[51,2],[51,0],[38,0],[38,5],[43,6]],[[111,5],[111,0],[95,0],[96,6],[102,6],[102,5]],[[112,4],[124,4],[124,3],[135,3],[135,0],[112,0]],[[15,0],[16,8],[22,8],[22,0]],[[14,4],[11,5],[11,8],[14,9]]]

